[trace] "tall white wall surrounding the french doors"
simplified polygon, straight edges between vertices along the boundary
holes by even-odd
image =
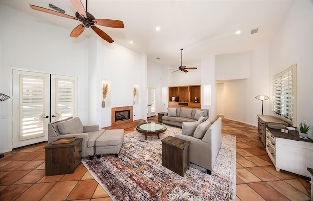
[[[12,97],[12,69],[78,77],[78,116],[88,120],[88,39],[74,39],[68,30],[1,4],[1,86]],[[10,20],[8,20],[10,19]],[[22,19],[22,20],[21,20]],[[39,22],[38,22],[39,21]],[[27,23],[25,23],[27,22]],[[1,153],[10,151],[12,99],[0,102]]]

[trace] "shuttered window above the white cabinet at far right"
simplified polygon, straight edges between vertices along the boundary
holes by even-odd
[[[297,126],[297,64],[274,76],[273,114]]]

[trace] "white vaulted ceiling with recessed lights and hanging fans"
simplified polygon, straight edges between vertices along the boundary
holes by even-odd
[[[49,8],[51,3],[75,16],[76,10],[69,0],[1,0],[1,3],[68,29],[68,37],[80,23],[29,7],[33,4]],[[86,9],[86,0],[82,3]],[[268,43],[291,4],[292,1],[285,0],[88,0],[87,11],[96,19],[124,22],[124,29],[98,26],[116,43],[147,53],[148,60],[158,65],[179,66],[181,48],[183,64],[187,64],[199,62],[207,55],[238,53]],[[157,26],[160,31],[156,31]],[[255,28],[258,33],[250,34]],[[238,35],[237,30],[241,31]],[[80,37],[90,34],[95,33],[85,29]]]

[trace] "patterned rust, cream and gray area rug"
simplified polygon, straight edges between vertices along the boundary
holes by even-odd
[[[83,158],[92,176],[118,201],[230,201],[236,198],[236,137],[222,134],[222,146],[212,175],[190,163],[184,177],[162,166],[162,142],[180,128],[148,136],[134,131],[125,135],[117,158],[114,155]],[[204,154],[204,153],[203,153]]]

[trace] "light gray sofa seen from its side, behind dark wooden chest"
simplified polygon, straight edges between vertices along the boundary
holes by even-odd
[[[213,124],[212,124],[213,123]],[[211,174],[222,143],[222,121],[209,118],[202,123],[183,123],[175,138],[190,141],[189,161],[206,168]]]

